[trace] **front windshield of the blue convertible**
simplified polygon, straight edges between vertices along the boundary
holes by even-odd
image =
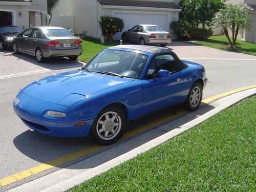
[[[82,69],[106,75],[139,78],[146,60],[147,56],[141,53],[104,50]]]

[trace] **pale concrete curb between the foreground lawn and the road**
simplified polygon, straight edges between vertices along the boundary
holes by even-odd
[[[141,154],[141,153],[144,153],[148,150],[150,150],[151,148],[183,133],[184,131],[202,123],[204,120],[214,116],[215,114],[219,113],[220,111],[228,108],[229,106],[232,106],[236,103],[238,103],[239,101],[247,98],[247,97],[250,97],[252,95],[255,95],[256,94],[256,88],[253,88],[253,89],[249,89],[249,90],[245,90],[245,91],[242,91],[242,92],[239,92],[239,93],[236,93],[236,94],[233,94],[233,95],[230,95],[230,96],[227,96],[227,97],[224,97],[222,99],[219,99],[217,101],[214,101],[212,103],[210,103],[209,105],[211,106],[212,110],[208,111],[207,113],[202,113],[203,115],[199,116],[198,117],[198,111],[201,109],[202,111],[204,110],[205,106],[203,106],[202,108],[200,108],[198,111],[196,112],[193,112],[193,113],[190,113],[190,114],[187,114],[188,116],[190,115],[194,115],[194,116],[197,116],[196,119],[194,120],[191,120],[185,124],[182,124],[181,126],[179,125],[175,125],[175,128],[174,129],[170,129],[170,126],[171,124],[175,124],[175,122],[169,122],[165,125],[162,125],[160,127],[157,128],[157,130],[155,130],[155,132],[167,132],[165,134],[162,134],[161,136],[151,140],[151,141],[148,141],[136,148],[134,148],[133,150],[125,153],[125,154],[122,154],[116,158],[113,158],[107,162],[104,162],[104,163],[101,163],[100,165],[98,166],[91,166],[93,168],[90,168],[90,169],[84,169],[82,173],[74,176],[74,177],[71,177],[69,179],[66,179],[65,181],[62,181],[62,182],[59,182],[53,186],[45,186],[44,188],[41,188],[40,186],[36,186],[38,185],[39,183],[41,184],[42,181],[44,181],[44,178],[47,178],[48,181],[50,179],[55,179],[56,177],[56,173],[52,173],[52,174],[49,174],[47,176],[44,176],[42,178],[38,178],[36,180],[33,180],[31,182],[28,182],[24,185],[20,185],[16,188],[13,188],[13,189],[10,189],[9,191],[66,191],[70,188],[73,188],[75,185],[78,185],[82,182],[84,182],[85,180],[89,180],[91,178],[93,178],[94,176],[96,175],[99,175],[103,172],[106,172],[107,170],[109,170],[110,168],[112,167],[115,167],[117,165],[119,165],[120,163],[123,163],[129,159],[132,159],[134,157],[136,157],[137,155]],[[181,117],[182,118],[182,117]],[[184,116],[184,118],[186,118],[186,115]],[[177,119],[177,121],[179,121],[179,119]],[[169,131],[171,130],[171,131]],[[112,148],[113,149],[113,148]],[[85,161],[85,160],[84,160]],[[90,158],[87,159],[86,161],[90,161]],[[80,165],[83,163],[82,162],[79,162]],[[79,166],[76,167],[77,169],[79,168]],[[69,169],[69,170],[66,170],[66,174],[68,174],[69,172],[71,173],[72,169]],[[58,171],[57,171],[58,172]],[[60,175],[61,176],[61,175]],[[52,177],[52,178],[51,178]],[[46,180],[47,180],[46,179]],[[37,181],[38,180],[38,181]]]

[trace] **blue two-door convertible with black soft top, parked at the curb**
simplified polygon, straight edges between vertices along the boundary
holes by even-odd
[[[13,102],[31,129],[56,137],[89,133],[101,144],[120,138],[126,121],[185,102],[197,110],[204,67],[168,48],[125,45],[103,50],[80,70],[37,80]]]

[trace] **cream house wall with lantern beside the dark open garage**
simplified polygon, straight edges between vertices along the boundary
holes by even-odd
[[[29,6],[25,5],[1,5],[0,11],[12,11],[13,19],[15,20],[14,25],[20,29],[27,29],[29,27]],[[19,12],[22,16],[19,16]]]

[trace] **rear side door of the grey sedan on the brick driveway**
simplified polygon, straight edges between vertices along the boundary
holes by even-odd
[[[31,33],[31,37],[28,39],[28,52],[31,55],[35,54],[35,49],[39,46],[41,40],[41,31],[34,29]]]

